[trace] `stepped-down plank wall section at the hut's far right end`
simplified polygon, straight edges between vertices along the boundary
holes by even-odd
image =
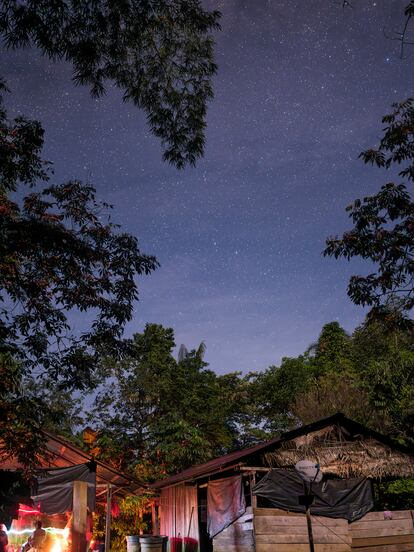
[[[352,550],[358,552],[413,552],[413,512],[392,512],[384,519],[383,512],[370,512],[349,525]]]

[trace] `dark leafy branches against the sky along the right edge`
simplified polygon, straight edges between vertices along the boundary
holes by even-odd
[[[378,148],[361,153],[364,163],[389,171],[407,183],[414,181],[414,100],[393,105],[383,118]],[[347,207],[354,227],[327,240],[325,255],[361,257],[375,271],[352,276],[348,294],[357,305],[372,308],[371,316],[389,323],[411,324],[414,307],[414,203],[405,183],[387,182],[380,191]]]

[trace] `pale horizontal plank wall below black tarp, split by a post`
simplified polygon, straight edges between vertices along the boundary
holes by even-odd
[[[304,514],[274,508],[254,509],[256,552],[309,552],[308,529]],[[350,552],[348,522],[312,516],[315,552]]]

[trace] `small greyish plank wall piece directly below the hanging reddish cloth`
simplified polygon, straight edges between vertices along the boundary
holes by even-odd
[[[213,538],[213,552],[254,552],[252,508]]]

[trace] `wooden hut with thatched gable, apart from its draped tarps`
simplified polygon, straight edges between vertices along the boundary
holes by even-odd
[[[270,469],[292,469],[304,458],[318,463],[328,477],[414,477],[411,451],[338,413],[156,482],[153,488],[159,492],[161,534],[170,537],[172,551],[179,549],[176,543],[181,541],[189,544],[187,549],[197,542],[200,552],[309,550],[305,516],[269,507],[252,493]],[[209,518],[220,517],[221,505],[214,509],[211,500],[208,504],[210,489],[218,482],[230,485],[236,480],[239,486],[234,492],[241,488],[244,510],[212,533]],[[383,512],[373,512],[354,524],[317,516],[314,525],[317,552],[347,552],[351,548],[361,552],[414,551],[410,511],[392,512],[391,519],[385,519]]]

